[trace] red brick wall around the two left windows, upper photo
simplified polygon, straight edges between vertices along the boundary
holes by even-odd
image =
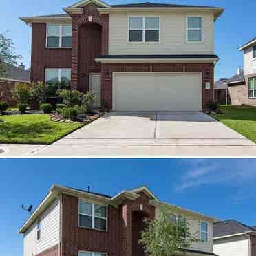
[[[71,67],[71,49],[47,49],[46,24],[32,23],[31,81],[44,81],[45,68]]]

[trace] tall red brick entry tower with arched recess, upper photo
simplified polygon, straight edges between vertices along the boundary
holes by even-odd
[[[96,58],[100,54],[107,54],[109,15],[100,15],[97,8],[98,6],[94,3],[89,3],[83,8],[83,14],[72,15],[71,84],[73,89],[82,89],[83,91],[88,89],[89,72],[100,72],[100,65],[95,61],[92,63],[92,57]],[[89,21],[89,16],[92,16],[92,21]],[[85,28],[83,28],[84,25],[86,25]],[[98,28],[96,29],[96,25],[100,27],[101,34],[99,34]],[[91,26],[92,28],[89,28]],[[86,28],[89,32],[80,36]],[[83,78],[80,76],[81,71],[85,73]]]

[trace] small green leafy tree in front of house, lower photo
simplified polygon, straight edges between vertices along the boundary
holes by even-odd
[[[182,248],[189,248],[198,242],[198,234],[189,232],[189,222],[179,217],[171,220],[170,213],[162,212],[156,220],[145,220],[140,243],[149,256],[184,255]]]

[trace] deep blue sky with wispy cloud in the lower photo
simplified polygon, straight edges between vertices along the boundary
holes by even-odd
[[[52,184],[110,195],[146,184],[165,202],[256,225],[253,159],[0,159],[0,167],[1,256],[22,255],[21,204],[36,206]]]

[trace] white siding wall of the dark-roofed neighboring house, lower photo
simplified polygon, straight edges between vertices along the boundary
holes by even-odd
[[[248,256],[248,246],[246,235],[227,237],[214,241],[213,253],[219,256]]]

